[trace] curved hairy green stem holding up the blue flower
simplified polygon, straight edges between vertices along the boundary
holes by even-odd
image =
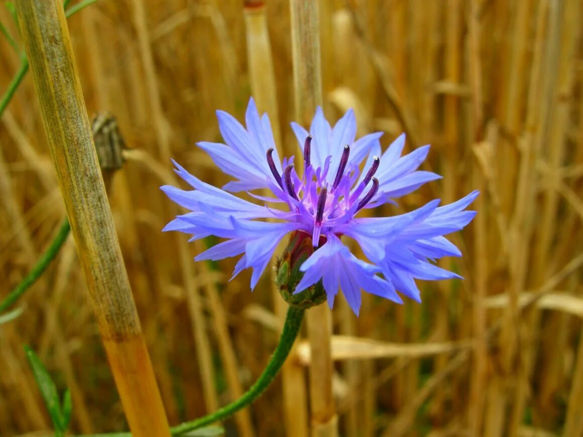
[[[255,399],[261,396],[286,361],[287,355],[289,355],[291,351],[291,347],[296,340],[297,334],[300,332],[301,322],[304,319],[304,312],[305,309],[297,308],[296,306],[289,307],[287,310],[286,322],[283,325],[282,335],[279,338],[278,347],[275,348],[275,352],[263,373],[261,373],[261,376],[259,376],[255,384],[252,385],[243,396],[236,401],[231,402],[229,405],[219,408],[219,410],[214,413],[210,413],[191,422],[184,422],[183,424],[170,428],[171,434],[180,435],[184,432],[192,431],[193,429],[224,420],[230,415],[237,413],[241,408],[247,407]]]

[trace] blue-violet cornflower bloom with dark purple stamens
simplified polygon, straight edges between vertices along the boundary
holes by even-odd
[[[191,211],[177,216],[164,231],[191,234],[191,241],[209,235],[226,239],[195,260],[243,254],[233,277],[252,267],[253,289],[286,234],[310,238],[313,249],[300,266],[303,277],[294,293],[321,280],[329,306],[340,288],[357,315],[361,289],[402,303],[399,291],[419,302],[415,279],[460,277],[433,261],[443,256],[461,256],[443,235],[461,230],[472,220],[476,213],[465,209],[477,191],[447,206],[438,207],[439,200],[433,200],[399,216],[357,217],[364,208],[393,203],[392,199],[440,178],[417,170],[429,146],[401,156],[405,145],[405,135],[401,135],[381,154],[382,133],[356,140],[352,110],[332,128],[318,107],[310,132],[291,124],[304,157],[303,171],[297,172],[293,157],[280,161],[268,115],[259,116],[252,98],[245,114],[247,128],[226,112],[217,111],[217,118],[226,145],[201,142],[198,146],[220,170],[237,180],[223,189],[216,188],[174,162],[177,174],[194,190],[161,187],[171,200]],[[250,192],[257,189],[269,189],[273,197]],[[281,207],[257,205],[227,191],[247,191],[263,203]],[[368,262],[350,252],[340,241],[343,235],[360,245]]]

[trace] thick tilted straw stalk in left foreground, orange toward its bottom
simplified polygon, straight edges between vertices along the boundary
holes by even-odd
[[[16,7],[71,231],[129,427],[136,436],[169,436],[94,150],[62,4],[22,0]]]

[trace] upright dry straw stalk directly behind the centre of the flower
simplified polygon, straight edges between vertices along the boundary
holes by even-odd
[[[322,105],[318,0],[291,0],[290,10],[296,121],[307,126],[316,107]],[[332,396],[332,314],[329,308],[326,305],[311,308],[307,313],[307,327],[314,357],[310,365],[312,435],[335,436],[338,435],[338,417]]]

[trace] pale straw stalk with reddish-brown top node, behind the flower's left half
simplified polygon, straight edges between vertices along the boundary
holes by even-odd
[[[246,1],[243,12],[251,93],[255,98],[259,112],[265,111],[269,114],[276,146],[280,148],[280,151],[283,151],[285,156],[290,156],[294,154],[294,150],[286,150],[280,132],[277,87],[265,3],[263,1]],[[270,272],[273,272],[273,268],[270,269]],[[283,323],[287,305],[279,295],[279,291],[276,290],[273,280],[271,280],[271,284],[275,312]],[[290,353],[291,356],[293,356],[294,350],[295,347]],[[283,365],[281,375],[286,435],[303,437],[308,433],[304,370],[293,360],[287,360]]]

